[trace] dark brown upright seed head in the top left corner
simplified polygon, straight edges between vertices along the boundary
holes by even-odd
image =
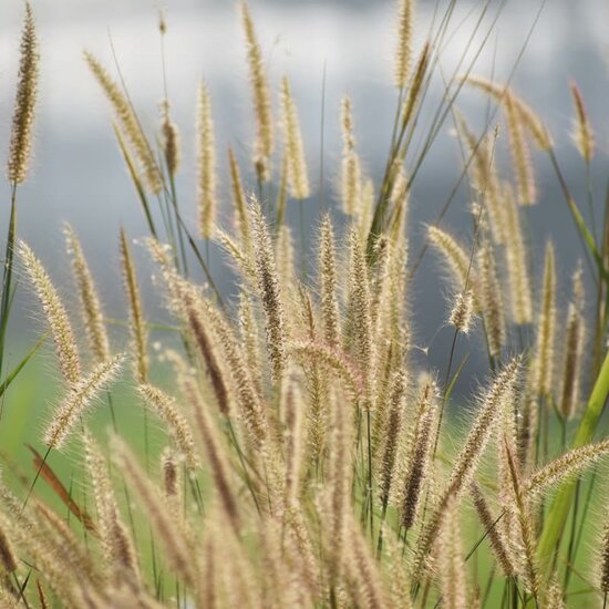
[[[38,97],[39,60],[38,34],[32,7],[25,2],[25,17],[21,32],[21,59],[9,144],[8,176],[13,184],[24,182],[28,176]]]

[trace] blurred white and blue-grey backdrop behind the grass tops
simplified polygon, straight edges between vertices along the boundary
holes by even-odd
[[[184,215],[195,227],[193,126],[197,84],[205,79],[216,121],[220,219],[227,224],[230,199],[226,149],[229,144],[238,154],[246,180],[254,186],[248,173],[252,109],[237,6],[233,0],[33,0],[32,4],[41,39],[41,90],[33,171],[19,195],[19,231],[45,261],[65,293],[70,293],[61,233],[63,221],[69,220],[79,233],[103,287],[109,314],[124,317],[116,252],[118,226],[123,224],[135,239],[146,234],[146,227],[115,144],[109,104],[87,71],[82,51],[92,51],[116,75],[113,45],[131,97],[152,134],[158,126],[163,97],[158,10],[166,9],[167,85],[173,116],[183,140],[179,199]],[[445,1],[416,2],[417,51],[435,11],[442,14],[445,6]],[[9,138],[22,8],[19,0],[0,2],[0,157]],[[298,102],[316,190],[304,204],[307,238],[312,241],[319,211],[323,72],[326,70],[326,196],[337,190],[341,153],[339,106],[344,93],[353,101],[355,134],[365,171],[378,186],[396,99],[392,85],[395,2],[251,0],[250,8],[266,53],[276,109],[279,79],[283,73],[289,75]],[[464,53],[466,63],[473,60],[488,35],[473,73],[504,80],[517,63],[513,84],[549,126],[572,193],[584,199],[584,164],[569,135],[574,112],[568,85],[569,80],[575,79],[597,133],[600,154],[593,162],[592,185],[596,213],[601,214],[608,177],[605,153],[609,126],[609,3],[606,0],[551,0],[533,28],[539,8],[537,0],[489,3],[457,0],[442,51],[442,71],[451,74]],[[482,24],[469,40],[483,11],[486,12]],[[425,125],[430,124],[443,93],[442,80],[436,79],[427,95],[429,110],[422,115],[421,134],[426,133]],[[484,126],[488,105],[482,94],[464,90],[457,107],[473,126],[478,130]],[[530,209],[533,240],[536,248],[541,248],[545,238],[551,235],[558,244],[560,290],[566,292],[581,248],[548,161],[536,156],[536,167],[540,202]],[[448,116],[413,185],[409,228],[413,256],[421,247],[425,223],[433,221],[446,203],[461,169],[462,158]],[[468,204],[468,189],[464,187],[443,223],[463,238],[471,230]],[[2,238],[8,209],[9,185],[4,183],[0,187]],[[297,220],[296,209],[290,210],[290,216]],[[145,267],[145,252],[143,248],[136,249]],[[218,282],[225,292],[231,293],[231,275],[221,267],[217,250],[213,249],[211,254],[211,268]],[[426,256],[411,296],[415,342],[423,349],[431,345],[425,357],[432,367],[445,364],[446,347],[452,339],[452,333],[441,328],[446,317],[447,289],[437,280],[437,269],[433,254]],[[144,277],[146,271],[141,275]],[[151,316],[162,316],[158,299],[152,298],[152,283],[145,285],[151,297]],[[17,316],[11,320],[14,353],[9,355],[12,361],[42,327],[35,312],[37,303],[27,290],[20,291],[18,302]],[[468,365],[471,374],[464,376],[464,390],[471,389],[476,375],[476,361],[472,360]]]

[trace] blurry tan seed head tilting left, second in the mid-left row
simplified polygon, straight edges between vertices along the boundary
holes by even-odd
[[[102,304],[76,234],[70,225],[65,225],[64,231],[66,248],[72,257],[72,272],[76,283],[89,347],[95,362],[100,363],[110,359],[110,341]]]

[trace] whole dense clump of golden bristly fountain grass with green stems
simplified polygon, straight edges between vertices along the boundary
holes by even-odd
[[[311,198],[303,145],[310,134],[301,133],[288,79],[268,78],[273,71],[246,2],[239,11],[257,184],[249,183],[251,172],[241,175],[238,135],[221,166],[209,93],[200,85],[193,131],[196,200],[184,216],[177,197],[182,151],[164,54],[161,122],[148,138],[122,79],[115,81],[86,53],[114,112],[118,148],[151,233],[145,242],[161,278],[155,287],[167,306],[163,322],[147,301],[144,313],[131,238],[121,229],[128,330],[116,337],[121,347],[107,332],[106,299],[83,254],[90,244],[65,228],[81,338],[66,293],[17,238],[16,192],[28,174],[38,81],[37,32],[25,4],[8,165],[12,206],[0,353],[7,352],[14,247],[53,340],[63,393],[43,429],[45,455],[30,446],[33,482],[19,466],[18,492],[9,489],[9,476],[0,482],[1,606],[607,606],[608,527],[599,531],[598,571],[588,574],[578,547],[595,544],[589,514],[607,499],[596,481],[609,454],[609,441],[597,433],[609,394],[609,220],[600,230],[586,225],[549,131],[510,86],[512,78],[499,84],[471,74],[473,63],[465,58],[487,21],[492,3],[484,4],[476,8],[478,21],[455,73],[440,74],[446,91],[425,131],[423,111],[433,105],[431,83],[441,70],[456,2],[436,13],[417,48],[415,3],[396,0],[398,105],[384,174],[379,184],[363,174],[365,142],[355,145],[352,102],[343,97],[334,172],[334,203],[343,214],[320,205],[317,236],[301,236],[300,260],[287,202]],[[162,17],[162,44],[166,28]],[[466,75],[458,79],[463,69]],[[479,133],[456,109],[465,83],[496,105]],[[271,91],[279,92],[277,125]],[[575,84],[571,94],[572,138],[593,207],[595,132]],[[440,348],[435,340],[423,342],[414,320],[416,283],[410,279],[422,267],[421,256],[409,258],[407,211],[419,203],[419,169],[448,114],[465,166],[445,207],[427,224],[421,254],[427,245],[440,252],[453,295],[454,339],[446,369],[437,370],[432,362],[442,359],[435,357]],[[283,143],[279,172],[273,172],[276,130]],[[498,137],[504,131],[505,143]],[[534,179],[533,147],[548,155],[586,248],[596,290],[590,303],[584,266],[571,267],[572,289],[562,298],[556,244],[548,242],[544,272],[536,272],[539,248],[525,238],[522,208],[545,205]],[[469,239],[457,239],[443,219],[464,178],[471,183],[474,225]],[[225,195],[231,230],[218,225]],[[189,220],[195,216],[196,229]],[[298,276],[307,268],[306,238],[317,244],[314,261],[311,272]],[[230,293],[217,290],[200,255],[200,245],[211,241],[236,270]],[[188,270],[190,256],[200,268]],[[437,334],[447,331],[444,320],[437,326]],[[462,334],[467,340],[457,341]],[[90,358],[82,355],[86,352]],[[118,400],[110,386],[127,357],[131,382],[121,386]],[[469,360],[478,372],[487,368],[491,381],[465,405],[460,385],[471,384]],[[0,399],[21,368],[6,375]],[[7,395],[10,404],[12,394]],[[100,440],[103,413],[90,424],[87,414],[101,396],[124,410],[125,421],[138,417],[144,455],[130,447],[140,426],[122,424],[118,436],[114,425],[110,443]],[[134,400],[144,404],[140,414],[131,412]],[[55,457],[65,463],[65,455],[70,481],[55,466]],[[12,464],[12,455],[2,452],[2,458]],[[582,476],[590,467],[595,477],[588,482]],[[39,479],[61,504],[47,502]]]

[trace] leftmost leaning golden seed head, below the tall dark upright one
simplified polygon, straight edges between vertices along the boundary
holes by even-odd
[[[65,308],[51,278],[30,247],[20,241],[18,249],[51,328],[63,379],[69,386],[73,386],[81,380],[81,362]]]

